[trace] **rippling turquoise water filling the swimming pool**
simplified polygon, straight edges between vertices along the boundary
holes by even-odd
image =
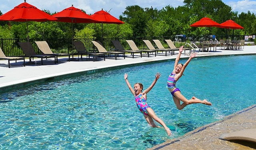
[[[181,60],[180,62],[185,62]],[[177,110],[166,80],[174,61],[122,68],[0,94],[0,149],[144,150],[255,104],[256,56],[193,59],[177,82],[187,98]],[[172,130],[150,128],[124,81],[150,86],[148,104]]]

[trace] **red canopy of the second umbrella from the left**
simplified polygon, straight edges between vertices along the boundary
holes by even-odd
[[[75,8],[73,5],[52,16],[58,18],[58,22],[98,23],[98,21],[82,12],[82,10]]]

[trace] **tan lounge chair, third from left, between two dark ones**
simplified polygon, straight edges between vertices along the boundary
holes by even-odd
[[[58,63],[58,56],[68,56],[68,61],[70,61],[70,54],[53,53],[46,41],[35,41],[35,42],[36,42],[36,45],[38,46],[39,50],[43,54],[51,54],[51,55],[56,56],[56,62],[57,63]]]

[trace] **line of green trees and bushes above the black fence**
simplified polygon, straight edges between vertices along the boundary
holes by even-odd
[[[52,15],[48,10],[44,12]],[[109,12],[111,14],[111,12]],[[2,12],[0,12],[2,15]],[[138,5],[127,6],[119,19],[125,24],[103,24],[104,38],[127,38],[144,36],[174,36],[184,34],[187,37],[203,37],[205,35],[231,35],[232,30],[224,28],[194,28],[190,24],[208,17],[222,23],[233,20],[244,27],[234,30],[235,35],[255,35],[256,15],[254,13],[232,11],[232,8],[221,0],[184,0],[184,6],[173,8],[168,5],[156,8],[142,8]],[[30,38],[101,38],[102,24],[65,22],[28,22]],[[0,22],[0,38],[27,38],[26,22]]]

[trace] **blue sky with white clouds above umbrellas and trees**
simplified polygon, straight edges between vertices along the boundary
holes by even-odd
[[[0,11],[4,14],[12,10],[15,6],[24,2],[24,0],[1,0]],[[36,6],[40,10],[49,10],[50,12],[60,12],[65,8],[71,7],[85,10],[86,14],[94,14],[101,9],[109,12],[112,16],[119,18],[127,6],[138,5],[142,8],[156,8],[161,10],[165,6],[174,8],[183,6],[183,0],[26,0],[27,3]],[[256,14],[256,0],[222,0],[224,4],[231,6],[232,11]]]

